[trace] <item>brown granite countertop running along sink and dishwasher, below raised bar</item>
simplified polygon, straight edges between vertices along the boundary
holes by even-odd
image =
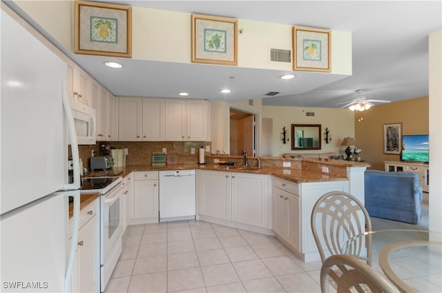
[[[137,171],[162,171],[162,170],[215,170],[224,172],[242,172],[250,174],[267,174],[286,179],[296,183],[307,182],[324,182],[324,181],[347,181],[347,177],[333,176],[330,174],[298,170],[294,168],[280,168],[280,167],[262,167],[262,168],[244,168],[244,166],[229,166],[220,164],[182,164],[182,165],[131,165],[125,168],[114,168],[108,171],[93,171],[88,176],[126,176],[131,172]]]

